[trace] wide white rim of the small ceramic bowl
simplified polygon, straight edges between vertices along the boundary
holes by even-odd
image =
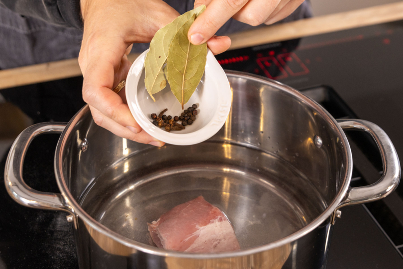
[[[210,49],[207,50],[207,61],[206,65],[209,65],[210,68],[214,71],[214,76],[217,76],[216,83],[218,83],[219,91],[216,91],[216,100],[217,106],[215,108],[214,115],[211,117],[210,121],[202,126],[199,130],[191,133],[186,134],[176,134],[176,133],[168,133],[158,127],[155,127],[149,119],[145,119],[142,117],[139,100],[135,98],[135,100],[131,100],[130,96],[132,95],[132,91],[137,91],[138,81],[136,83],[136,78],[131,75],[135,71],[135,69],[139,64],[144,65],[144,59],[146,54],[150,49],[145,50],[141,53],[136,60],[131,65],[127,78],[126,78],[126,100],[127,105],[130,109],[131,114],[133,115],[134,119],[136,120],[137,124],[145,131],[153,130],[152,136],[157,138],[160,141],[166,142],[168,144],[173,145],[193,145],[201,143],[214,134],[218,133],[221,127],[225,124],[226,119],[228,118],[229,112],[231,110],[231,103],[232,103],[232,91],[229,85],[228,80],[226,79],[226,75],[224,70],[222,69],[221,65],[215,59],[213,53]],[[144,72],[144,67],[142,69]],[[137,76],[138,77],[138,76]],[[131,89],[129,91],[128,89]],[[133,96],[131,96],[133,97]],[[151,134],[147,132],[148,134]]]

